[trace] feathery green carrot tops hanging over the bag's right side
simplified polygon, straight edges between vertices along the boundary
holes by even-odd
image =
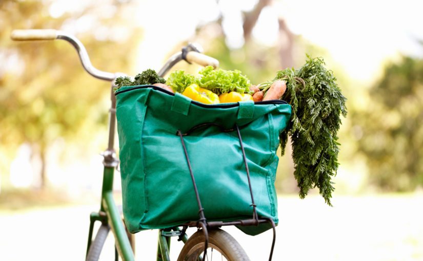
[[[275,77],[287,81],[283,99],[291,104],[293,113],[286,131],[280,135],[280,144],[284,151],[288,136],[291,137],[300,198],[317,186],[331,205],[334,190],[331,179],[339,165],[337,132],[340,115],[347,115],[346,98],[323,59],[307,57],[300,69],[279,71]]]

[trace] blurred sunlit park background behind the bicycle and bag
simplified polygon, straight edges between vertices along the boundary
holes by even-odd
[[[2,259],[84,259],[98,209],[110,86],[65,41],[10,40],[13,29],[52,28],[78,37],[96,68],[129,75],[160,69],[187,42],[255,84],[306,54],[323,57],[349,111],[334,207],[318,191],[298,198],[288,147],[274,260],[423,260],[422,9],[412,0],[0,1]],[[119,175],[115,187],[118,197]],[[231,233],[252,260],[266,259],[270,234]],[[155,236],[137,234],[137,259],[153,258]]]

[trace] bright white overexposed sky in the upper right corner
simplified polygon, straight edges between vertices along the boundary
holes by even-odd
[[[357,80],[373,80],[387,57],[423,55],[423,2],[283,0],[275,9],[293,33],[327,49]],[[383,7],[383,8],[381,8]],[[318,10],[318,11],[317,11]]]

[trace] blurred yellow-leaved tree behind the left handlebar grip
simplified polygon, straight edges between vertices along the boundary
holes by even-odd
[[[11,30],[66,30],[84,42],[95,67],[111,72],[129,70],[140,35],[138,28],[124,23],[129,5],[84,1],[69,8],[66,3],[0,2],[0,57],[7,64],[0,67],[0,142],[9,154],[19,144],[30,144],[41,159],[42,188],[47,183],[45,156],[50,144],[58,137],[87,144],[94,130],[107,123],[102,100],[110,97],[110,91],[108,83],[82,69],[67,42],[12,42]]]

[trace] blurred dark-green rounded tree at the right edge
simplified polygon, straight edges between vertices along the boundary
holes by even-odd
[[[351,117],[371,181],[390,191],[423,186],[423,60],[389,64],[369,94],[369,106]]]

